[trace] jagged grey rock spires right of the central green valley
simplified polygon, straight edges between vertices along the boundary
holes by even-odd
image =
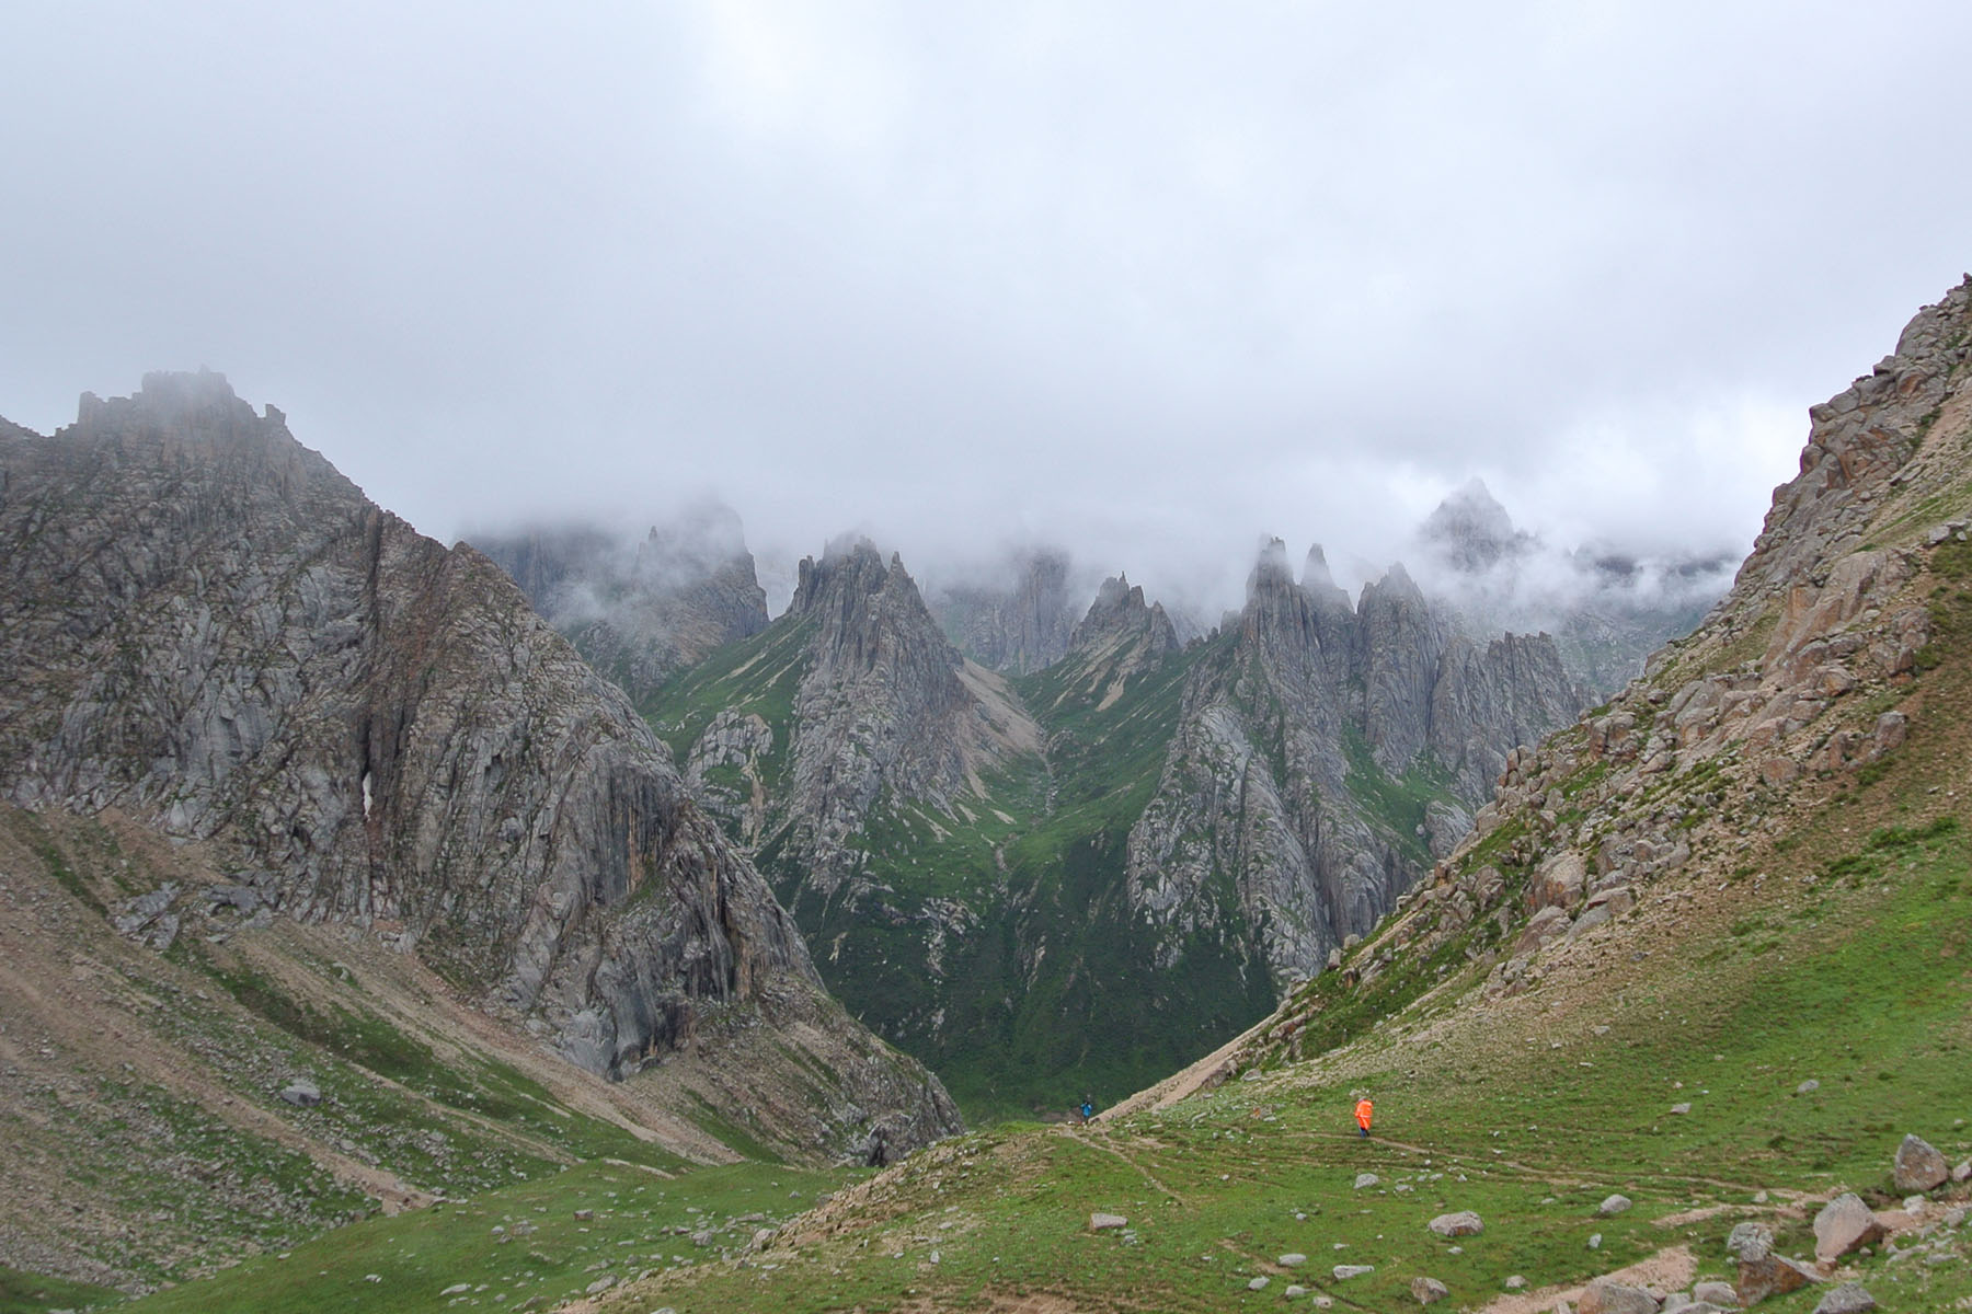
[[[1268,544],[1130,831],[1130,898],[1165,928],[1162,961],[1242,924],[1276,983],[1311,975],[1449,851],[1513,747],[1580,707],[1546,636],[1475,648],[1402,567],[1351,609],[1319,548],[1296,581]]]

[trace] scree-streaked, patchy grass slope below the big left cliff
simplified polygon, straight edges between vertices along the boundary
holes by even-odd
[[[676,1172],[809,1150],[773,1115],[803,1095],[765,1064],[745,1101],[696,1072],[603,1082],[367,932],[197,912],[197,890],[241,888],[211,863],[114,814],[0,810],[10,1300],[181,1282],[586,1162]],[[179,890],[181,924],[160,952],[164,922],[134,916],[162,890]]]

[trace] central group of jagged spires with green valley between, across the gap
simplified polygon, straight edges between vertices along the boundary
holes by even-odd
[[[1120,1095],[1234,1034],[1578,707],[1546,638],[1475,644],[1402,567],[1351,603],[1280,544],[1234,626],[1179,644],[1118,575],[1059,660],[1002,678],[846,540],[653,719],[830,989],[988,1111]]]

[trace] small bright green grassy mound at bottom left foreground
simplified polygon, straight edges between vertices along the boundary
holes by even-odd
[[[365,1219],[128,1308],[132,1314],[548,1310],[599,1282],[613,1286],[639,1273],[740,1253],[755,1229],[812,1208],[814,1196],[840,1180],[842,1174],[769,1164],[698,1168],[672,1178],[592,1162],[469,1200]],[[588,1217],[578,1217],[578,1210]]]

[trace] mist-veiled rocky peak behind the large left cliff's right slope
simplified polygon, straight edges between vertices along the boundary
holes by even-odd
[[[724,506],[694,506],[635,548],[590,526],[473,534],[471,544],[637,705],[678,670],[767,628],[753,554]]]

